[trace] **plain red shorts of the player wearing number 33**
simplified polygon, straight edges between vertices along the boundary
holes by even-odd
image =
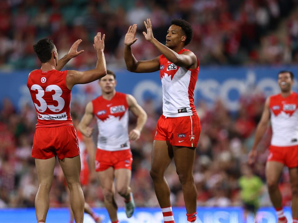
[[[80,154],[73,125],[39,127],[35,129],[31,156],[37,159],[72,158]]]

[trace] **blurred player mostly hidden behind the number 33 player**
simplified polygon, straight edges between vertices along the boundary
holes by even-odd
[[[77,132],[77,139],[78,139],[79,147],[80,147],[80,158],[81,158],[80,181],[81,181],[82,190],[83,190],[83,192],[85,194],[85,191],[87,189],[88,183],[90,181],[90,170],[89,170],[88,160],[87,160],[87,157],[88,157],[87,150],[92,148],[92,146],[89,146],[89,145],[90,145],[90,143],[93,143],[93,142],[91,142],[92,141],[92,138],[90,138],[90,137],[88,138],[88,137],[84,136],[78,130],[78,126],[79,126],[79,121],[80,120],[78,119],[77,114],[76,113],[72,113],[71,115],[72,115],[72,122],[73,122],[74,127],[75,127],[76,132]],[[89,161],[90,161],[90,159],[89,159]],[[94,172],[95,172],[95,170],[94,170]],[[91,175],[93,175],[93,172],[91,172]],[[69,192],[68,189],[67,189],[67,191]],[[70,223],[73,223],[73,221],[74,221],[74,215],[73,215],[72,209],[70,208],[69,211],[70,211]],[[100,216],[98,216],[91,209],[91,207],[89,206],[89,204],[87,202],[85,202],[85,205],[84,205],[84,212],[87,213],[87,214],[89,214],[96,223],[100,223],[102,221],[102,219],[100,218]]]

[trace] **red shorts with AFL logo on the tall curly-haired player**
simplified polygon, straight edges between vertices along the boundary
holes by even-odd
[[[200,134],[198,115],[174,118],[161,115],[154,140],[169,141],[173,146],[197,147]]]

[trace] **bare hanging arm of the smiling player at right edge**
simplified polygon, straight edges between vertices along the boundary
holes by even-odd
[[[254,136],[254,144],[252,146],[252,150],[249,152],[248,155],[248,162],[249,164],[254,163],[256,156],[257,156],[257,145],[261,141],[265,131],[267,129],[269,120],[270,120],[270,108],[269,108],[270,98],[268,97],[265,102],[263,114],[259,124],[257,125],[256,133]]]

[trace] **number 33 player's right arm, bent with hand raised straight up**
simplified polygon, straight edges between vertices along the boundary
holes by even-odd
[[[95,69],[86,70],[86,71],[77,71],[77,70],[69,70],[66,76],[66,86],[69,89],[75,84],[86,84],[92,81],[98,80],[104,77],[107,74],[107,68],[105,64],[105,55],[103,50],[105,48],[105,34],[103,34],[103,38],[101,39],[100,32],[94,37],[94,49],[97,54],[97,62]]]

